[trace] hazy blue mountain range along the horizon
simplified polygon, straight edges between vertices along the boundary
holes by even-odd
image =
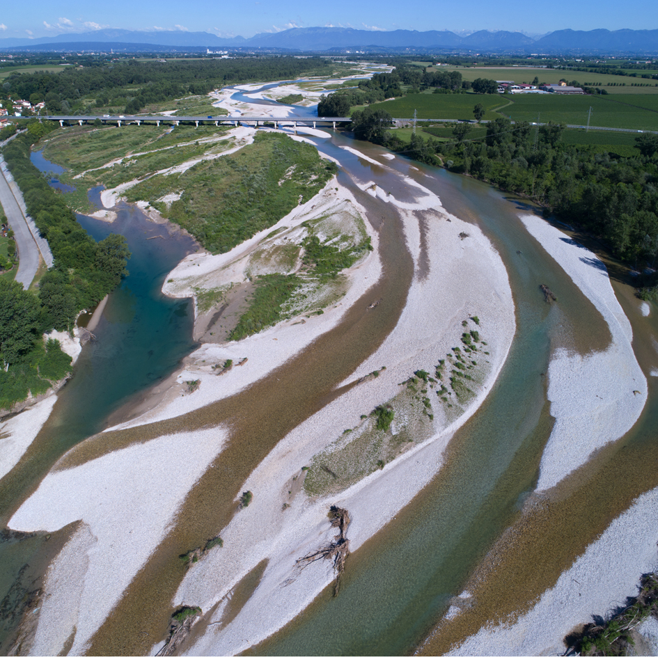
[[[241,48],[338,52],[347,49],[437,49],[475,52],[658,53],[658,29],[558,30],[531,38],[521,32],[480,30],[467,36],[430,30],[369,31],[344,27],[297,27],[251,38],[221,38],[209,32],[101,29],[38,39],[0,39],[0,50]]]

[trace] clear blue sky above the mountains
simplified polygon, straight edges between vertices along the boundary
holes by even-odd
[[[0,38],[54,36],[102,27],[130,30],[187,30],[221,36],[250,37],[258,32],[290,27],[344,26],[357,29],[452,31],[491,29],[546,33],[571,28],[590,30],[656,29],[654,0],[628,0],[623,8],[613,0],[520,0],[445,2],[410,0],[332,0],[300,3],[290,0],[159,0],[157,3],[114,0],[31,0],[26,5],[5,2],[0,9]],[[653,17],[653,18],[652,18]]]

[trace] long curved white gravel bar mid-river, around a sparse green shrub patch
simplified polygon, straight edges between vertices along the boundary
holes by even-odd
[[[416,212],[424,207],[421,198]],[[422,253],[418,219],[408,209],[401,210],[400,215],[409,250],[418,265]],[[329,505],[350,510],[350,547],[359,548],[436,475],[448,441],[483,402],[498,376],[515,331],[506,269],[475,226],[456,217],[448,222],[437,210],[426,210],[425,219],[428,275],[414,280],[398,326],[343,383],[382,365],[386,371],[335,399],[276,445],[244,483],[244,489],[253,491],[253,502],[223,530],[224,548],[196,564],[183,580],[175,604],[199,605],[204,612],[212,609],[212,617],[205,620],[213,625],[187,647],[189,654],[236,654],[301,612],[333,577],[327,562],[303,570],[295,566],[295,560],[318,549],[335,533],[327,521]],[[459,237],[464,229],[469,230],[468,239]],[[295,488],[294,482],[304,477],[301,467],[344,429],[357,425],[361,413],[395,396],[398,383],[414,370],[430,370],[445,357],[459,340],[462,319],[469,315],[480,317],[491,362],[476,399],[466,411],[448,420],[435,408],[437,420],[427,441],[342,493],[317,499],[307,498],[301,491],[291,496],[288,491]],[[274,328],[270,335],[282,333],[281,328]],[[283,502],[290,505],[285,510]],[[223,626],[221,617],[231,589],[263,559],[269,562],[258,588],[235,619]]]

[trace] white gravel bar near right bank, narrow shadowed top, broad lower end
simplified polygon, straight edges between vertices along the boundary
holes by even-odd
[[[605,351],[581,356],[557,349],[551,357],[548,398],[556,422],[542,454],[536,489],[545,491],[635,424],[646,403],[647,381],[633,351],[631,324],[603,262],[540,217],[521,219],[592,301],[612,335]]]

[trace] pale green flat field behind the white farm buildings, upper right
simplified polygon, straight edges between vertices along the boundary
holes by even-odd
[[[645,95],[652,94],[658,95],[658,81],[643,79],[638,77],[627,77],[620,75],[610,75],[607,73],[585,73],[582,71],[563,71],[552,68],[522,68],[521,66],[514,67],[472,67],[461,68],[454,66],[439,66],[428,68],[430,71],[459,71],[462,74],[462,79],[472,82],[479,77],[491,80],[512,80],[517,84],[525,82],[531,84],[535,76],[539,78],[540,84],[557,84],[561,79],[568,81],[576,80],[585,86],[592,86],[599,84],[609,94],[637,94]],[[618,84],[620,86],[607,86],[608,84]],[[625,84],[625,86],[623,86]],[[631,86],[632,84],[646,84],[648,86]]]

